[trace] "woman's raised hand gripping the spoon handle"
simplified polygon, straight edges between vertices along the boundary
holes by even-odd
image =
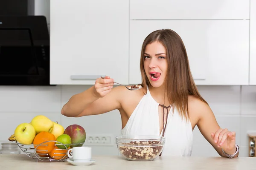
[[[111,91],[113,85],[114,80],[111,79],[109,76],[104,77],[104,79],[102,79],[101,77],[96,79],[96,82],[94,84],[94,95],[96,97],[104,97]]]

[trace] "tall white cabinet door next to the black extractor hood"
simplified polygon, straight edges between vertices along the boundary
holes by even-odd
[[[51,84],[128,84],[128,0],[50,0],[50,19]]]

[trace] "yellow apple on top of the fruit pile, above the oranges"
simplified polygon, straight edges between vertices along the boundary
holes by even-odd
[[[38,134],[40,132],[52,132],[53,122],[44,115],[35,116],[31,120],[31,125],[35,128],[35,133]]]

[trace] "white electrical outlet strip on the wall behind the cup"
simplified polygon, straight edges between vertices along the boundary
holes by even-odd
[[[87,146],[113,146],[113,134],[86,134],[84,145]]]

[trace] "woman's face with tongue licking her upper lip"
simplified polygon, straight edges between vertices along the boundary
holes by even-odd
[[[144,69],[150,84],[154,88],[162,86],[168,68],[165,47],[157,41],[146,45],[144,58]]]

